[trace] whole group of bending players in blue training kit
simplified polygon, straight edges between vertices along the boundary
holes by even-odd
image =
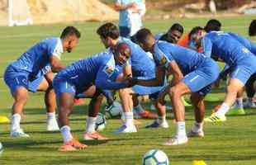
[[[130,40],[120,36],[115,24],[105,23],[97,29],[97,35],[107,50],[66,67],[60,56],[65,51],[70,53],[81,37],[75,27],[67,26],[60,37],[41,40],[6,68],[4,81],[14,99],[11,136],[29,137],[20,126],[28,92],[44,91],[47,130],[60,130],[64,141],[60,151],[87,147],[73,138],[69,127],[73,100],[78,97],[91,99],[83,139],[107,139],[97,133],[95,124],[103,98],[113,104],[114,92],[121,100],[124,120],[116,134],[137,132],[133,109],[143,111],[138,97],[149,95],[158,116],[147,128],[168,128],[166,96],[173,106],[177,131],[165,145],[186,144],[188,137],[203,137],[204,121],[224,121],[236,100],[243,104],[244,86],[254,104],[256,45],[235,33],[220,31],[220,26],[220,21],[210,20],[204,28],[197,26],[183,37],[183,26],[178,23],[159,35],[143,28]],[[251,26],[249,33],[255,35],[255,21]],[[225,70],[220,72],[216,61],[227,64]],[[204,97],[226,75],[230,79],[225,101],[205,118]],[[187,94],[191,96],[196,121],[186,132],[183,96]]]

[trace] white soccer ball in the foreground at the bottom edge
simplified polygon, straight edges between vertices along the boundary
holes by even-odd
[[[142,159],[143,165],[168,165],[167,155],[159,149],[151,149]]]

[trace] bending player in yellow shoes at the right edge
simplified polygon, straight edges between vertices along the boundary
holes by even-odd
[[[244,45],[223,31],[199,31],[196,42],[201,43],[203,54],[220,60],[232,68],[224,102],[215,113],[205,121],[225,121],[225,114],[234,104],[237,93],[242,90],[248,79],[256,72],[256,57]]]

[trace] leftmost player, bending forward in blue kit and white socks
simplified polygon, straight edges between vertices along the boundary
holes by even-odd
[[[12,137],[29,137],[21,129],[21,114],[26,105],[28,92],[44,91],[47,111],[47,130],[59,130],[55,119],[55,92],[52,87],[53,72],[65,68],[60,63],[60,55],[69,53],[78,44],[80,32],[73,26],[67,26],[60,37],[41,40],[31,47],[19,59],[9,64],[4,81],[10,88],[14,103],[12,106]]]

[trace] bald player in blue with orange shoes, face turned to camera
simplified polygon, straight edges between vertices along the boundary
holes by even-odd
[[[96,116],[102,102],[101,90],[117,90],[129,87],[128,80],[121,80],[121,66],[130,58],[129,45],[120,43],[112,50],[82,59],[59,72],[54,88],[59,108],[59,127],[64,139],[60,151],[73,151],[87,146],[73,139],[69,127],[69,115],[73,111],[73,98],[79,93],[92,97],[84,139],[107,139],[95,131]],[[119,82],[116,82],[118,80]]]

